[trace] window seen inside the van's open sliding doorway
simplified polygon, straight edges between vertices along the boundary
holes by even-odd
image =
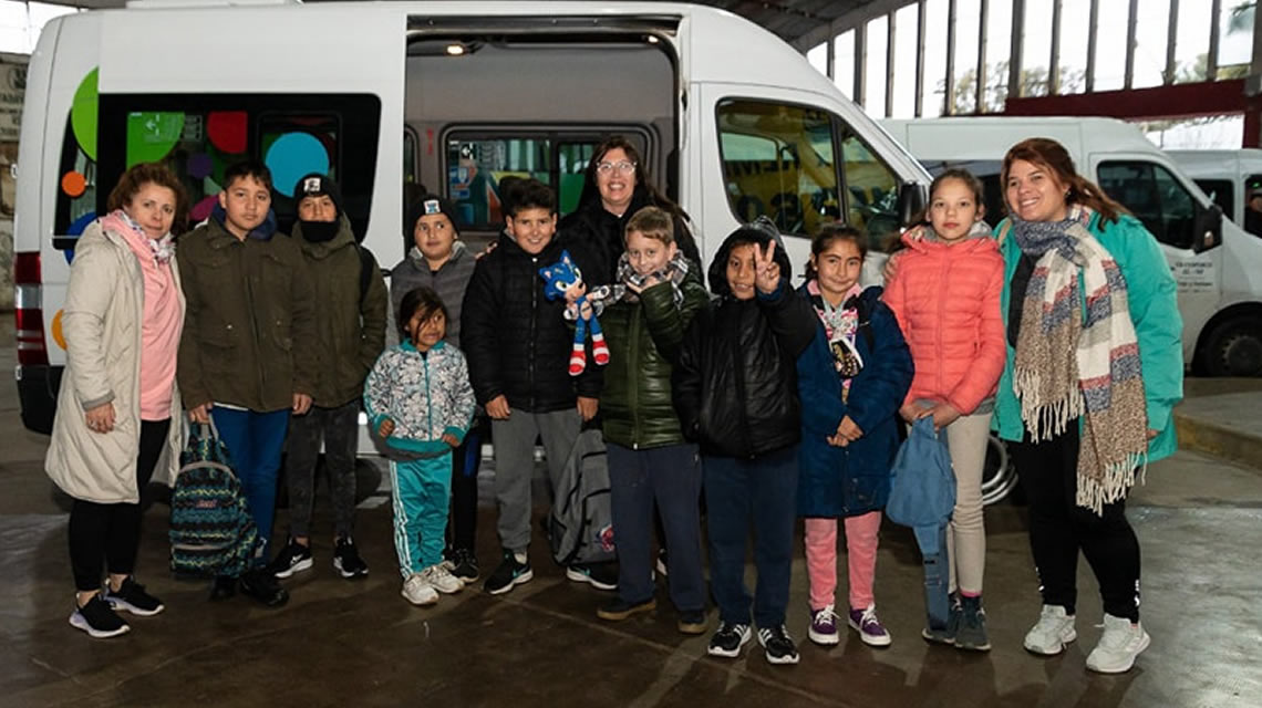
[[[573,212],[583,193],[583,170],[608,135],[622,135],[641,155],[651,154],[645,131],[630,126],[599,133],[548,129],[449,133],[443,187],[456,204],[458,226],[496,231],[504,223],[500,179],[510,175],[533,177],[555,187],[559,216]],[[654,177],[658,172],[652,172]]]

